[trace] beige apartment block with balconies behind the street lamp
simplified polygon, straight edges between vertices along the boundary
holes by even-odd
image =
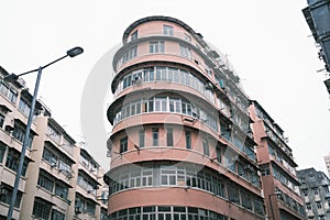
[[[0,67],[0,78],[8,73]],[[6,219],[32,95],[24,81],[0,82],[0,219]],[[106,219],[105,172],[41,101],[31,127],[13,219]]]

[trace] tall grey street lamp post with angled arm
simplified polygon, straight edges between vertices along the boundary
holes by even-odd
[[[15,182],[14,182],[14,186],[13,186],[13,190],[12,190],[12,195],[11,195],[11,200],[10,200],[10,206],[9,206],[9,210],[8,210],[8,215],[7,215],[7,220],[12,219],[13,208],[14,208],[15,200],[16,200],[19,184],[20,184],[20,179],[21,179],[21,173],[22,173],[24,157],[25,157],[25,151],[26,151],[26,147],[29,145],[30,130],[31,130],[31,124],[32,124],[32,120],[33,120],[35,100],[36,100],[36,96],[37,96],[37,90],[38,90],[38,85],[40,85],[42,70],[44,68],[51,66],[52,64],[54,64],[56,62],[59,62],[61,59],[63,59],[67,56],[75,57],[75,56],[81,54],[82,52],[84,52],[84,50],[81,47],[79,47],[79,46],[74,47],[74,48],[67,51],[65,56],[62,56],[62,57],[55,59],[54,62],[51,62],[51,63],[46,64],[45,66],[41,66],[36,69],[30,70],[30,72],[26,72],[26,73],[23,73],[23,74],[20,74],[20,75],[15,75],[15,74],[7,75],[2,79],[2,80],[13,81],[13,80],[18,80],[20,76],[37,72],[37,77],[36,77],[35,86],[34,86],[34,92],[33,92],[33,97],[32,97],[31,109],[30,109],[30,113],[29,113],[29,118],[28,118],[28,125],[26,125],[26,130],[25,130],[25,134],[24,134],[22,151],[21,151],[20,161],[19,161],[18,173],[16,173],[16,176],[15,176]]]

